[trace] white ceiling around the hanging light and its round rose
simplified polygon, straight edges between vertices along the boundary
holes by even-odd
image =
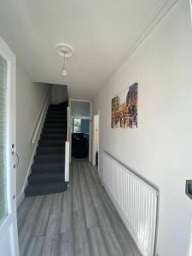
[[[165,2],[165,1],[164,1]],[[33,81],[91,99],[137,40],[160,0],[0,0],[0,35]],[[55,44],[73,46],[67,77]]]

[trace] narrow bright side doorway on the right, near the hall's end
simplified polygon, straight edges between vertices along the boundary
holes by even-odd
[[[99,166],[99,113],[93,116],[93,155],[92,164]]]

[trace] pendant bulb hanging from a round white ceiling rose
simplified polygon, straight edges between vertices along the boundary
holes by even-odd
[[[58,55],[63,57],[63,67],[62,67],[62,75],[67,76],[67,66],[66,66],[66,58],[70,58],[74,54],[74,49],[69,44],[55,44],[55,50]]]

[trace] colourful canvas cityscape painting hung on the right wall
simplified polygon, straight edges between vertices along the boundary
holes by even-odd
[[[112,99],[111,127],[137,128],[138,84],[132,84]]]

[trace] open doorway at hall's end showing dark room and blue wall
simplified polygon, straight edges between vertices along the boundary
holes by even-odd
[[[90,144],[90,119],[72,119],[72,157],[88,158]]]

